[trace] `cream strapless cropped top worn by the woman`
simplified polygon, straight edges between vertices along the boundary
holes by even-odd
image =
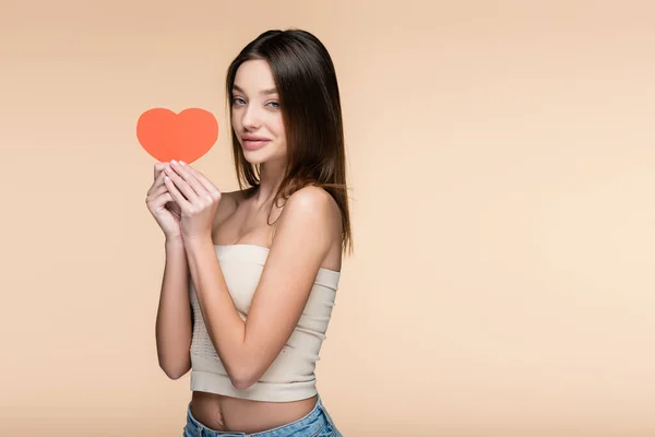
[[[269,248],[253,245],[214,246],[231,299],[242,320],[248,311]],[[193,281],[189,297],[193,315],[191,390],[269,402],[289,402],[317,394],[314,368],[332,316],[341,273],[320,269],[302,315],[284,347],[246,390],[233,385],[207,333]]]

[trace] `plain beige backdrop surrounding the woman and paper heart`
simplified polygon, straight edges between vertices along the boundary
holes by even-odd
[[[139,115],[319,36],[356,253],[318,366],[346,436],[655,435],[650,1],[1,1],[0,435],[178,436]]]

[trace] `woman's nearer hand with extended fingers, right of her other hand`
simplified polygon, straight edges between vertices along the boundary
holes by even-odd
[[[212,238],[212,224],[221,191],[190,165],[170,162],[164,184],[181,211],[180,232],[184,241]]]

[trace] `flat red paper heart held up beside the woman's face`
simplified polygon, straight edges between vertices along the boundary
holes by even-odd
[[[218,122],[200,108],[187,108],[180,114],[153,108],[139,117],[136,138],[159,162],[178,160],[190,164],[212,149],[218,139]]]

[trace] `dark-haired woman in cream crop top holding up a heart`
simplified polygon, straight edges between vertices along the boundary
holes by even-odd
[[[184,436],[341,436],[315,388],[342,255],[352,252],[341,102],[324,46],[269,31],[227,72],[240,190],[158,163],[166,236],[159,365],[191,370]]]

